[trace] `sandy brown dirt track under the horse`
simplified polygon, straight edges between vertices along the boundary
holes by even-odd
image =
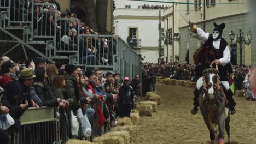
[[[210,134],[201,113],[190,113],[192,88],[158,85],[157,91],[162,97],[162,104],[152,117],[141,118],[136,143],[210,143]],[[231,115],[231,141],[234,144],[256,143],[256,102],[240,97],[235,97],[235,101],[237,113]]]

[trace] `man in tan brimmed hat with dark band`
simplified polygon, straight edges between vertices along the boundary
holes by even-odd
[[[35,77],[32,69],[24,68],[20,71],[18,83],[21,88],[21,93],[19,94],[19,101],[22,104],[28,103],[28,107],[37,107],[38,109],[39,106],[34,103],[30,94],[30,88],[32,87]]]

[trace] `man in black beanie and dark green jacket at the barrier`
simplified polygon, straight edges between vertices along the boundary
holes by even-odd
[[[66,97],[65,99],[73,99],[73,110],[76,111],[79,108],[78,101],[79,101],[79,91],[77,86],[77,68],[75,65],[66,65],[65,66],[65,89],[66,89]]]

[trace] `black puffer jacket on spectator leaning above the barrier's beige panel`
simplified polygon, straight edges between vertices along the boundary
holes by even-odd
[[[34,82],[33,87],[36,89],[38,97],[42,100],[43,106],[58,106],[59,103],[54,98],[53,92],[46,83]]]

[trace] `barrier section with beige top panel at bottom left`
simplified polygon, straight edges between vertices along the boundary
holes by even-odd
[[[11,143],[59,143],[59,119],[55,116],[54,107],[29,108],[21,116],[21,127],[8,129]]]

